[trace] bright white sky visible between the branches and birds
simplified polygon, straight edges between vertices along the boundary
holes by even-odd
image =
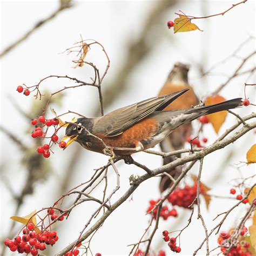
[[[79,40],[79,35],[83,38],[94,38],[105,46],[105,49],[111,59],[111,68],[107,73],[105,81],[111,81],[117,72],[118,66],[122,64],[126,57],[126,45],[137,38],[143,28],[148,11],[153,7],[154,1],[75,1],[72,8],[64,10],[52,21],[46,23],[36,32],[34,32],[25,42],[12,50],[1,59],[1,123],[10,131],[15,133],[24,143],[30,144],[30,136],[24,136],[24,131],[28,128],[26,120],[17,113],[8,96],[12,96],[25,111],[29,111],[32,96],[25,97],[17,93],[16,87],[19,84],[36,84],[40,79],[48,75],[69,75],[80,79],[89,77],[84,69],[72,69],[72,57],[59,55],[73,42]],[[215,14],[226,10],[235,1],[210,1],[207,3],[207,14]],[[58,6],[57,1],[1,1],[1,46],[4,49],[10,43],[21,37],[33,24],[50,15]],[[174,12],[183,10],[187,15],[202,16],[202,3],[198,1],[178,1],[174,9],[166,10],[161,33],[165,34],[154,50],[136,69],[129,78],[128,90],[124,91],[122,96],[113,102],[105,113],[125,106],[145,98],[157,95],[160,87],[163,85],[167,73],[177,61],[190,63],[191,82],[199,97],[203,97],[214,91],[226,78],[223,76],[210,76],[207,79],[200,79],[196,64],[206,61],[206,70],[212,65],[223,60],[230,55],[237,46],[245,41],[248,35],[255,36],[255,2],[248,1],[246,4],[237,6],[223,17],[213,17],[194,21],[204,32],[194,31],[187,33],[177,33],[173,35],[172,30],[168,30],[166,22],[174,19]],[[153,24],[152,24],[153,25]],[[206,46],[204,46],[207,44]],[[204,49],[204,52],[202,52]],[[246,44],[241,50],[239,56],[247,56],[255,49],[255,42]],[[207,56],[206,56],[207,53]],[[88,53],[88,58],[93,60],[100,68],[104,67],[105,59],[99,50],[92,50]],[[206,58],[206,59],[205,59]],[[255,59],[250,60],[244,70],[252,68]],[[225,73],[230,75],[238,66],[239,60],[232,59],[225,65],[220,65],[215,73]],[[247,67],[247,68],[246,68]],[[243,84],[255,83],[255,77],[242,76],[234,79],[226,88],[221,91],[221,95],[227,99],[234,97],[243,97]],[[56,91],[57,88],[71,84],[69,81],[48,80],[43,84],[45,89]],[[103,83],[104,88],[104,83]],[[86,94],[81,92],[86,91]],[[255,90],[248,88],[247,95],[251,96],[251,101],[255,103]],[[82,106],[87,103],[86,109]],[[54,106],[58,113],[67,110],[73,110],[90,116],[98,104],[97,92],[94,88],[83,87],[82,89],[70,90],[65,93],[63,106]],[[235,110],[242,116],[253,111],[253,107],[247,107]],[[255,111],[255,110],[254,110]],[[72,117],[72,116],[71,116]],[[235,122],[235,118],[228,114],[227,120],[221,127],[220,134],[228,126]],[[32,128],[31,128],[32,129]],[[208,125],[205,129],[205,136],[209,142],[214,142],[217,138],[212,127]],[[229,159],[230,164],[237,164],[239,161],[245,161],[246,151],[255,142],[253,132],[239,139],[233,145],[224,150],[212,153],[204,160],[202,181],[212,187],[212,194],[228,196],[231,186],[227,182],[232,178],[238,177],[238,171],[231,165],[222,167],[222,161],[227,153],[234,151]],[[61,151],[56,146],[55,154],[46,159],[51,161],[53,172],[48,180],[37,184],[35,194],[27,196],[21,208],[19,215],[26,215],[35,209],[50,206],[53,200],[59,198],[57,194],[58,182],[62,179],[62,168],[69,159],[71,151],[79,146],[75,143],[69,149]],[[103,166],[107,157],[94,152],[83,152],[84,159],[80,160],[79,168],[74,170],[75,175],[72,178],[70,188],[86,181],[92,174],[92,170]],[[10,184],[15,191],[20,191],[23,187],[22,182],[25,179],[26,172],[20,163],[21,152],[10,140],[1,133],[1,166],[4,166],[3,173],[10,180]],[[134,159],[144,163],[153,169],[161,165],[161,159],[156,156],[138,153]],[[217,182],[213,183],[214,173],[223,168],[217,177]],[[241,172],[245,176],[250,176],[255,172],[255,166],[244,166]],[[121,187],[112,202],[120,197],[129,187],[129,177],[131,174],[143,174],[144,172],[134,166],[118,164],[121,175]],[[198,171],[198,165],[194,167],[194,173]],[[114,187],[115,179],[112,170],[109,171],[110,184]],[[215,179],[216,180],[216,179]],[[130,247],[127,244],[137,242],[147,227],[148,217],[145,211],[150,199],[157,199],[158,178],[150,179],[144,182],[133,194],[133,201],[127,200],[122,206],[114,211],[105,221],[105,224],[98,231],[91,243],[93,253],[100,252],[103,255],[127,255]],[[111,187],[110,185],[110,187]],[[95,196],[100,196],[103,187],[100,187]],[[213,199],[210,210],[207,212],[203,203],[201,211],[204,215],[208,230],[211,230],[212,219],[220,212],[230,208],[235,201],[224,199]],[[72,211],[68,221],[63,221],[58,226],[59,241],[52,248],[51,254],[58,252],[69,242],[75,240],[87,222],[90,214],[95,209],[95,204],[82,204]],[[236,223],[241,213],[236,211],[228,218],[225,228],[230,228]],[[6,187],[1,184],[1,238],[6,235],[11,225],[9,217],[15,210],[15,201],[11,198]],[[182,210],[177,207],[180,215]],[[152,248],[162,248],[169,252],[167,244],[159,245],[161,231],[178,230],[187,223],[189,211],[185,211],[183,220],[169,218],[168,221],[161,221],[159,230],[152,242]],[[196,215],[196,214],[195,214]],[[192,255],[193,251],[199,246],[204,238],[204,230],[201,223],[196,218],[193,219],[190,227],[181,235],[181,253],[180,255]],[[213,237],[212,246],[216,243],[217,237]],[[142,247],[142,249],[144,249]],[[204,250],[199,251],[199,255],[204,255]],[[9,252],[8,252],[9,253]],[[173,254],[173,253],[171,253]],[[170,255],[171,255],[170,254]],[[9,254],[8,254],[9,255]],[[213,255],[213,254],[212,254]]]

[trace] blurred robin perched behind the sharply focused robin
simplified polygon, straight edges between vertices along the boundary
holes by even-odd
[[[175,91],[190,89],[187,93],[180,96],[172,104],[165,107],[164,111],[170,111],[175,109],[188,109],[191,106],[196,106],[199,100],[194,93],[193,88],[188,83],[188,71],[190,69],[189,65],[177,62],[174,64],[173,69],[169,73],[164,86],[161,88],[158,96],[166,95]],[[161,151],[171,152],[174,150],[183,149],[187,137],[191,135],[192,125],[191,123],[186,123],[179,126],[176,130],[169,134],[161,143]],[[171,163],[180,155],[165,157],[163,162],[164,165]],[[169,170],[169,174],[175,178],[181,172],[181,166],[177,166],[175,169]],[[159,189],[163,192],[171,185],[171,180],[168,176],[161,177]]]

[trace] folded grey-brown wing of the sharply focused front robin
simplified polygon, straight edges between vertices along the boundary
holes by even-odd
[[[121,109],[115,110],[99,118],[93,127],[96,133],[102,133],[106,136],[117,136],[123,133],[133,124],[149,116],[154,111],[161,111],[173,100],[183,95],[189,89],[174,92],[170,95],[154,97],[143,100],[142,102],[132,104]]]

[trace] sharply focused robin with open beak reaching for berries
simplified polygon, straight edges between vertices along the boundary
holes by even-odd
[[[117,156],[130,155],[157,145],[174,129],[205,114],[234,109],[241,105],[241,98],[215,105],[199,106],[184,110],[162,111],[173,100],[189,89],[170,95],[143,100],[103,117],[78,118],[66,127],[66,147],[76,141],[87,150],[104,153],[106,146]],[[90,132],[92,135],[88,135]]]

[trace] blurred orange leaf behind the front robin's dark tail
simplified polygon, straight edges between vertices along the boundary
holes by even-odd
[[[225,98],[219,95],[216,96],[210,96],[207,97],[207,99],[205,100],[205,105],[212,105],[212,104],[217,104],[220,102],[225,102]],[[212,124],[213,129],[216,133],[219,132],[221,125],[223,125],[225,119],[227,116],[227,111],[220,111],[217,113],[213,113],[213,114],[207,114],[207,118],[209,120],[209,122]]]

